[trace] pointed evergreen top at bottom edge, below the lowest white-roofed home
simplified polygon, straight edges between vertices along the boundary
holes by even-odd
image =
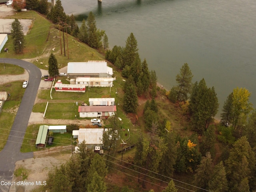
[[[88,192],[106,192],[107,187],[104,183],[102,177],[98,175],[97,172],[94,172],[91,177],[91,182],[88,184]]]

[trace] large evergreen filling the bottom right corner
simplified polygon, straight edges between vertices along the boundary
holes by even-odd
[[[246,137],[242,136],[234,143],[226,160],[226,170],[230,192],[239,191],[241,185],[246,186],[244,179],[252,179],[255,154]]]

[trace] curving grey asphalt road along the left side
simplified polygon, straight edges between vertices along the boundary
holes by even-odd
[[[4,58],[5,63],[18,65],[28,71],[28,87],[24,93],[20,107],[14,119],[8,141],[0,152],[0,182],[12,181],[15,162],[26,158],[32,158],[33,152],[21,153],[20,148],[28,126],[28,120],[34,106],[36,94],[41,81],[40,69],[30,62],[18,59]],[[12,94],[11,94],[12,96]],[[10,186],[1,185],[0,192],[8,192]]]

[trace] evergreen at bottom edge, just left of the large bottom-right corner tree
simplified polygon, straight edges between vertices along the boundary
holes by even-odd
[[[228,191],[228,180],[226,178],[226,171],[221,161],[214,167],[212,178],[208,183],[209,190],[212,192],[226,192]]]

